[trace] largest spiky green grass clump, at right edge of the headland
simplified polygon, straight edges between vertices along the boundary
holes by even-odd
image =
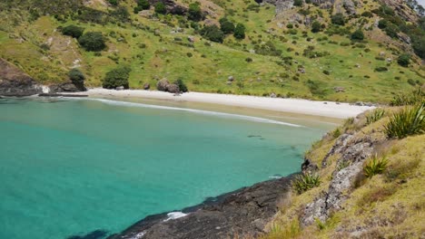
[[[410,135],[423,134],[425,132],[425,103],[406,107],[395,113],[385,125],[384,131],[390,139],[403,139]]]

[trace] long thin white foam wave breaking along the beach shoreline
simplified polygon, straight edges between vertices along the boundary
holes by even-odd
[[[88,98],[84,100],[96,100],[96,101],[104,102],[106,104],[127,106],[127,107],[141,107],[141,108],[159,109],[159,110],[180,110],[180,111],[187,111],[187,112],[193,112],[198,114],[213,115],[213,116],[223,117],[223,118],[244,119],[244,120],[250,120],[250,121],[260,122],[260,123],[279,124],[279,125],[285,125],[285,126],[291,126],[291,127],[302,127],[301,125],[282,122],[282,121],[273,120],[273,119],[264,119],[260,117],[238,115],[238,114],[231,114],[231,113],[222,113],[222,112],[209,111],[209,110],[194,110],[194,109],[187,109],[187,108],[151,105],[151,104],[134,103],[134,102],[117,101],[117,100],[95,99],[95,98]]]

